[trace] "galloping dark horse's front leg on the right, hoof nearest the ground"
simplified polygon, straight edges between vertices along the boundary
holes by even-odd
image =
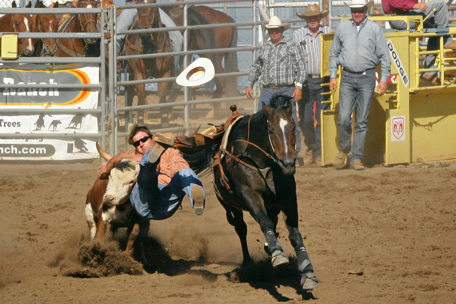
[[[285,176],[284,178],[286,179],[284,184],[280,188],[276,186],[276,194],[289,232],[288,238],[296,252],[298,270],[301,274],[301,287],[303,290],[311,290],[318,286],[318,280],[314,274],[314,267],[306,246],[304,246],[302,241],[301,233],[298,230],[296,184],[294,176],[291,176],[291,178]]]

